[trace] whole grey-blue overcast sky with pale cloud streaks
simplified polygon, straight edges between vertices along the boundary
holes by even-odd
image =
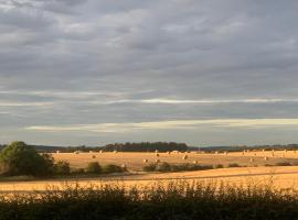
[[[0,0],[0,143],[298,143],[297,0]]]

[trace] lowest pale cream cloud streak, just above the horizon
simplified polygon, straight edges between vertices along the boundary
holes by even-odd
[[[136,130],[170,130],[195,129],[199,125],[224,128],[264,128],[264,127],[291,127],[298,125],[298,119],[214,119],[214,120],[173,120],[138,123],[99,123],[99,124],[72,124],[72,125],[33,125],[26,127],[29,131],[41,132],[103,132],[129,133]]]

